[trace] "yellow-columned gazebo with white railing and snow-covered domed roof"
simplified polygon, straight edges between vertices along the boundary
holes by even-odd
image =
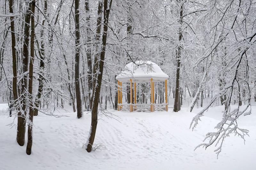
[[[125,65],[124,70],[116,76],[118,80],[118,111],[129,112],[154,112],[168,111],[167,103],[167,79],[169,76],[165,74],[161,68],[150,61],[135,61]],[[165,81],[165,103],[156,104],[154,82]],[[151,102],[150,104],[137,104],[136,102],[136,83],[150,82]],[[130,83],[130,103],[123,104],[122,102],[122,83]],[[134,103],[132,103],[132,83],[134,83]]]

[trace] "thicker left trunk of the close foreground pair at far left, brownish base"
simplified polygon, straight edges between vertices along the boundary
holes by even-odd
[[[23,58],[22,58],[22,72],[23,78],[21,80],[21,110],[18,112],[18,126],[17,126],[17,142],[20,146],[23,146],[25,143],[25,133],[26,133],[26,93],[28,90],[28,61],[29,61],[29,27],[30,27],[30,18],[31,18],[31,4],[28,4],[28,10],[26,11],[25,16],[25,25],[24,25],[24,39],[23,39]]]

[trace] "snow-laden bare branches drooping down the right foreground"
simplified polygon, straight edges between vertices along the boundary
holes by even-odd
[[[198,59],[197,63],[201,63],[205,60],[211,60],[212,55],[216,48],[224,45],[227,52],[224,57],[224,61],[227,63],[226,68],[229,70],[230,79],[226,78],[226,85],[217,92],[210,103],[200,111],[192,120],[190,128],[194,129],[198,124],[201,116],[204,112],[213,105],[214,102],[221,99],[221,97],[226,96],[227,106],[223,112],[222,120],[216,125],[215,132],[209,132],[206,134],[204,141],[208,139],[205,143],[199,144],[197,147],[203,146],[207,148],[212,144],[217,146],[215,152],[219,155],[221,152],[221,147],[224,139],[228,137],[231,133],[245,139],[248,135],[247,129],[242,129],[238,126],[238,118],[242,115],[251,114],[251,89],[250,82],[252,82],[249,75],[250,65],[250,51],[255,47],[256,42],[256,32],[252,21],[248,19],[255,14],[255,9],[252,9],[251,5],[245,5],[250,2],[246,1],[226,1],[225,3],[215,4],[209,1],[209,10],[204,13],[202,18],[204,21],[209,21],[208,17],[215,18],[209,22],[211,23],[211,32],[207,33],[208,36],[214,37],[209,39],[208,36],[208,48],[204,51],[203,55]],[[216,7],[216,5],[218,7]],[[217,18],[217,19],[216,19]],[[225,25],[223,23],[226,23]],[[246,25],[243,27],[242,25]],[[242,26],[242,27],[241,27]],[[223,29],[228,27],[229,29]],[[252,29],[247,29],[248,27]],[[216,34],[216,32],[220,32]],[[214,58],[212,58],[214,59]],[[220,70],[222,71],[222,70]],[[243,89],[248,89],[244,96],[240,94]],[[241,107],[237,103],[235,109],[231,109],[232,100],[243,100],[245,106]]]

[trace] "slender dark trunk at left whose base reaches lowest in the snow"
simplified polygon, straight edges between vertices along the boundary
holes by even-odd
[[[29,64],[29,80],[28,80],[28,99],[30,101],[29,106],[29,123],[28,123],[28,144],[26,153],[28,155],[31,154],[32,144],[33,144],[33,116],[34,116],[34,109],[33,109],[33,96],[32,96],[32,90],[33,90],[33,66],[34,66],[34,38],[35,38],[35,6],[36,2],[35,0],[32,1],[32,7],[31,7],[31,39],[30,39],[30,64]]]

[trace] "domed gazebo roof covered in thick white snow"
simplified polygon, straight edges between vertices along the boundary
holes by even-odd
[[[151,78],[153,82],[165,81],[169,78],[161,68],[150,61],[135,61],[134,63],[128,63],[125,65],[124,70],[116,76],[116,79],[120,82],[150,82]]]

